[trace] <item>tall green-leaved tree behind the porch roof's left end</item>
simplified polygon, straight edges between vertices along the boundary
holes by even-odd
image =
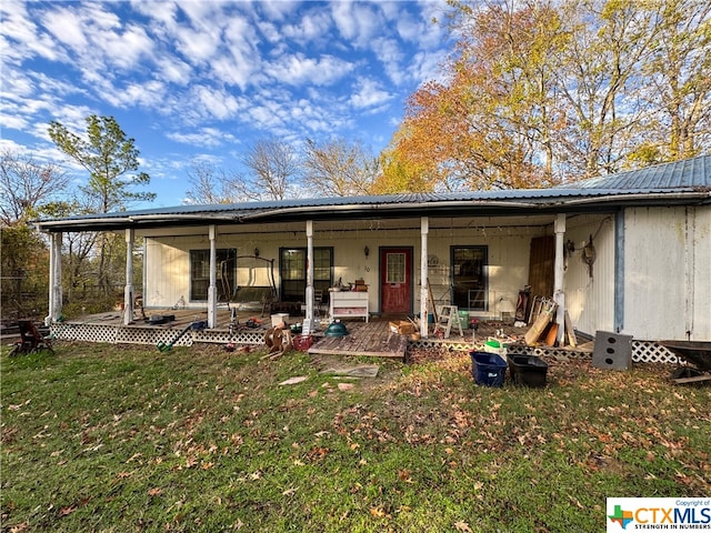
[[[134,140],[127,138],[113,117],[87,117],[86,137],[69,131],[57,121],[50,122],[49,135],[57,147],[89,172],[88,184],[81,187],[90,209],[107,213],[124,210],[130,202],[156,198],[152,192],[134,192],[131,188],[148,185],[150,178],[139,169],[139,151]],[[98,286],[104,294],[111,291],[109,251],[112,238],[99,239]]]

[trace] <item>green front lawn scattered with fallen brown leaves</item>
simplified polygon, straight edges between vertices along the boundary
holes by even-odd
[[[301,352],[6,354],[3,532],[592,532],[608,496],[711,494],[711,388],[669,366],[489,389],[452,352],[341,390]]]

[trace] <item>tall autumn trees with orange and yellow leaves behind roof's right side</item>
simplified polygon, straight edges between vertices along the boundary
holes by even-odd
[[[383,174],[547,187],[711,148],[704,0],[448,0],[443,81],[408,100]]]

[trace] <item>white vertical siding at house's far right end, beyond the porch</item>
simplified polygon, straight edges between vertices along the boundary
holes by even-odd
[[[638,339],[711,339],[711,210],[625,212],[624,331]]]

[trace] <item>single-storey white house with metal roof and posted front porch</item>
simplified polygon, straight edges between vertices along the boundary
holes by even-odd
[[[148,309],[207,306],[214,328],[222,302],[271,291],[303,305],[313,328],[314,296],[333,300],[329,288],[358,280],[358,316],[424,325],[434,300],[500,319],[530,285],[582,333],[711,339],[711,155],[552,189],[180,205],[36,225],[52,242],[49,322],[61,313],[62,232],[103,230],[126,235],[128,280],[144,238],[126,323],[136,292]]]

